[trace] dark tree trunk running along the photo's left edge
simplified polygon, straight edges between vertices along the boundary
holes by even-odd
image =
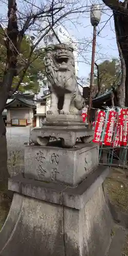
[[[8,27],[7,27],[7,63],[3,81],[0,84],[0,185],[6,191],[8,184],[7,170],[7,141],[6,127],[2,117],[2,112],[5,108],[6,101],[11,91],[12,81],[16,75],[17,65],[17,16],[16,16],[16,1],[8,0]]]

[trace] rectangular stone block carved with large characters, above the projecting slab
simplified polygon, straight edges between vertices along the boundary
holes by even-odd
[[[73,148],[25,147],[25,178],[76,186],[98,165],[98,147],[78,143]]]

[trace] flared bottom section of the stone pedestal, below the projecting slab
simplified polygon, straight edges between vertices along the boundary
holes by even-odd
[[[112,228],[102,189],[107,174],[107,169],[102,170],[99,182],[93,180],[95,189],[90,196],[87,193],[88,200],[80,209],[14,193],[9,215],[0,231],[0,255],[104,256]],[[73,199],[73,194],[70,197]]]

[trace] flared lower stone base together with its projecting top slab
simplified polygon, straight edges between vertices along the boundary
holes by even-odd
[[[0,231],[0,255],[104,256],[113,225],[102,188],[108,173],[98,166],[76,188],[10,179],[17,193]]]

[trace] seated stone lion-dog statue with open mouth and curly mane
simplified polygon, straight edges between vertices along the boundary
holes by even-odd
[[[49,45],[45,56],[51,109],[48,114],[78,114],[84,106],[75,76],[73,48],[70,45]]]

